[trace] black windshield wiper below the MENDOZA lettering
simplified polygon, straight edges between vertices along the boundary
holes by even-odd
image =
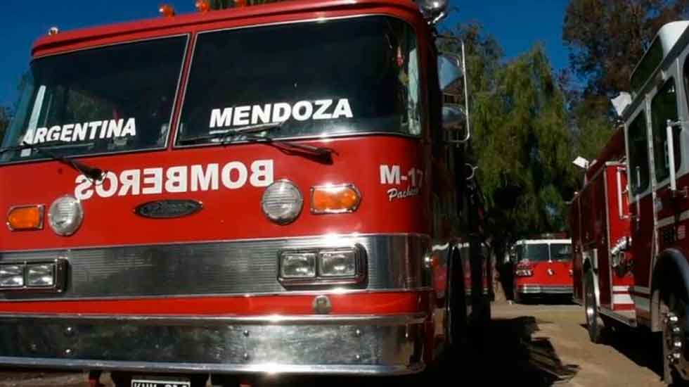
[[[269,136],[256,136],[255,133],[269,132],[272,130],[281,129],[286,121],[278,122],[275,124],[259,124],[259,125],[248,125],[245,127],[238,127],[235,129],[230,129],[226,132],[217,132],[212,134],[205,134],[203,136],[188,137],[186,139],[179,140],[179,144],[195,144],[199,141],[210,141],[210,140],[220,140],[220,144],[226,145],[231,141],[247,141],[250,143],[265,143],[271,144],[283,151],[302,151],[307,152],[314,156],[330,156],[335,151],[331,148],[326,148],[323,146],[311,146],[305,144],[295,144],[281,139],[274,139]]]

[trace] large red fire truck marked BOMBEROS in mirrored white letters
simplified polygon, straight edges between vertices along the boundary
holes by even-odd
[[[420,372],[489,312],[447,4],[199,4],[34,44],[0,148],[0,364]]]

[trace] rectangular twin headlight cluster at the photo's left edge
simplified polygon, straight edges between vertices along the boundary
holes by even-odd
[[[63,291],[64,259],[0,264],[0,291]]]

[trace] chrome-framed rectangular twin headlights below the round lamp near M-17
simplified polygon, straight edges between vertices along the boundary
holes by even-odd
[[[366,253],[362,246],[283,250],[279,254],[283,284],[358,284],[366,278]]]

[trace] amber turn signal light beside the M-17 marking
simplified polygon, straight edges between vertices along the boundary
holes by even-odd
[[[354,212],[361,194],[354,184],[314,186],[311,188],[311,213],[340,214]]]

